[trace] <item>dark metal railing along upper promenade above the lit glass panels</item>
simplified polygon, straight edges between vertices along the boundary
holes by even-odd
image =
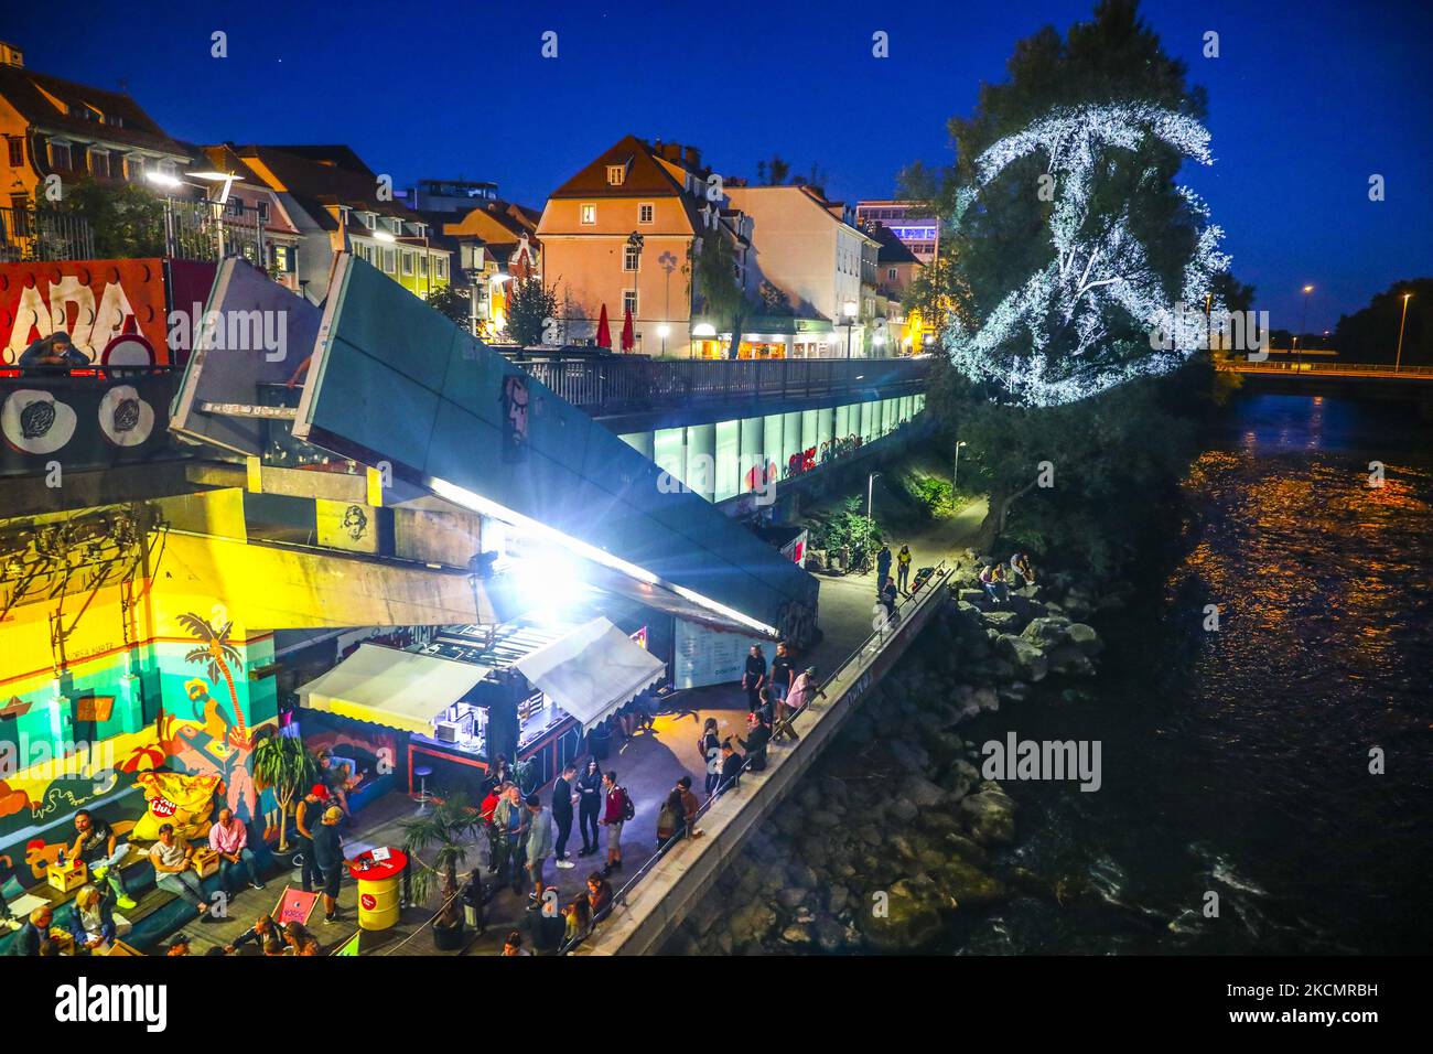
[[[573,359],[517,366],[573,406],[609,413],[748,399],[921,391],[927,359]]]

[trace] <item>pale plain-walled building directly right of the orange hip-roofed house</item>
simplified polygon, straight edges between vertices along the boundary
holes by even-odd
[[[808,185],[732,185],[728,196],[751,218],[751,281],[780,288],[795,318],[834,327],[805,343],[790,341],[788,354],[883,354],[886,298],[876,291],[880,242],[857,227],[856,211]]]

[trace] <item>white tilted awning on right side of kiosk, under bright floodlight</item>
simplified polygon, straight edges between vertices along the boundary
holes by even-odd
[[[586,733],[666,674],[666,664],[605,618],[517,660],[517,670],[582,721]]]

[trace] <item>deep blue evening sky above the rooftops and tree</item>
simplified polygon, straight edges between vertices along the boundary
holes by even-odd
[[[1089,17],[1092,0],[196,7],[14,4],[3,32],[32,69],[123,80],[179,138],[347,142],[398,185],[496,179],[542,205],[628,132],[696,143],[734,175],[778,152],[798,172],[818,162],[834,196],[888,196],[901,165],[950,158],[946,119],[1003,79],[1016,39]],[[1427,4],[1146,0],[1144,14],[1208,89],[1217,161],[1189,182],[1275,327],[1298,326],[1304,283],[1320,330],[1433,274]],[[539,56],[549,29],[555,60]],[[209,57],[214,30],[228,59]],[[876,30],[890,59],[871,57]],[[1205,30],[1219,59],[1201,57]]]

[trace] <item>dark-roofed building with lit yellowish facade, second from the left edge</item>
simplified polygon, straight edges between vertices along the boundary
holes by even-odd
[[[279,195],[302,232],[298,287],[311,300],[328,288],[335,252],[351,251],[426,300],[451,278],[451,251],[407,205],[380,196],[378,175],[342,145],[246,146],[231,151]]]

